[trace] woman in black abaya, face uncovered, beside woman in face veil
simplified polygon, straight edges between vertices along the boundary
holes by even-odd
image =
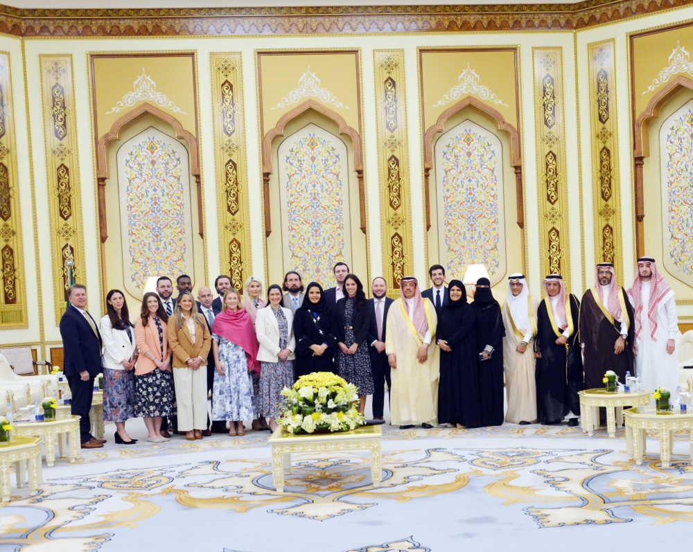
[[[474,308],[467,303],[464,285],[453,280],[450,300],[444,306],[438,328],[440,384],[438,422],[448,427],[480,427],[479,360]]]

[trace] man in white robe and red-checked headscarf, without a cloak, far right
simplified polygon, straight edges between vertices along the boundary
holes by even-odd
[[[653,258],[638,259],[628,296],[635,310],[633,356],[640,382],[649,391],[658,387],[673,391],[678,385],[676,300]]]

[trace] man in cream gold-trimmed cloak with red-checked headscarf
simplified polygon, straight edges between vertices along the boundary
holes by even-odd
[[[438,348],[435,345],[435,308],[421,297],[416,278],[400,282],[401,299],[387,312],[385,353],[392,368],[390,412],[392,425],[409,429],[416,424],[437,425]]]

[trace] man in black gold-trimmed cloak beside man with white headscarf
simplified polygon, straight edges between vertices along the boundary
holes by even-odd
[[[558,425],[568,416],[577,425],[583,388],[582,352],[577,340],[580,303],[565,291],[563,278],[550,274],[542,282],[546,296],[536,314],[536,398],[538,419]]]

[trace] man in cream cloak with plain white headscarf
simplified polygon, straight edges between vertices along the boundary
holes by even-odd
[[[503,364],[508,411],[505,421],[527,425],[536,420],[536,382],[532,346],[536,336],[536,309],[539,301],[529,293],[524,274],[511,274],[503,305],[505,326]],[[577,314],[577,313],[576,313]]]

